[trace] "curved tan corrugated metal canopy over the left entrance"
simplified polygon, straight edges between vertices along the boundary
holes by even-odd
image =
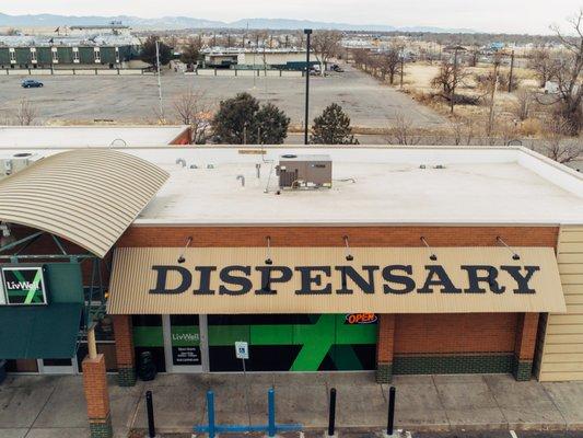
[[[167,178],[148,161],[110,149],[57,153],[0,182],[0,221],[103,257]]]

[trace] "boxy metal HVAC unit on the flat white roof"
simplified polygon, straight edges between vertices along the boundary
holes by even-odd
[[[294,155],[279,158],[277,166],[281,188],[331,187],[333,162],[330,155]]]

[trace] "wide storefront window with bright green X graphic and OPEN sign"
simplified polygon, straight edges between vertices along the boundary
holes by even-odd
[[[246,367],[252,371],[374,369],[376,321],[373,316],[209,315],[210,369],[242,370],[234,353],[236,341],[249,343]]]

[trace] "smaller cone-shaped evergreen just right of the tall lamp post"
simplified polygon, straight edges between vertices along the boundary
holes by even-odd
[[[358,145],[352,135],[350,117],[342,107],[333,103],[314,118],[310,142],[313,145]]]

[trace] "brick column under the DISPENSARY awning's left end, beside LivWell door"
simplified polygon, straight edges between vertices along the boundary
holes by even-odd
[[[114,315],[117,382],[120,387],[136,384],[136,353],[130,315]]]

